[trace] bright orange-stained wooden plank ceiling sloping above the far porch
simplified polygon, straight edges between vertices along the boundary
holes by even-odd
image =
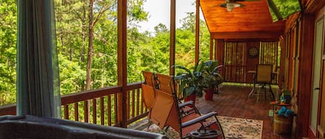
[[[267,0],[240,1],[245,7],[228,12],[225,0],[200,0],[213,39],[279,39],[284,21],[272,22]]]

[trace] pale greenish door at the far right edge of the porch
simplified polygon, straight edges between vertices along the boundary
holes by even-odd
[[[322,69],[322,47],[323,47],[323,34],[324,34],[324,18],[317,20],[315,26],[315,46],[314,46],[314,69],[313,69],[313,93],[311,96],[311,111],[310,111],[310,129],[314,135],[317,132],[317,120],[319,109],[319,91],[321,83]],[[322,69],[322,70],[321,70]],[[324,90],[324,89],[323,89]]]

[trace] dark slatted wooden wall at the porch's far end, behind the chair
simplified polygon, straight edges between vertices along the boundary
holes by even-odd
[[[278,40],[225,39],[222,41],[222,39],[217,39],[216,46],[216,59],[224,65],[222,75],[226,82],[253,83],[254,76],[248,71],[256,71],[257,64],[273,64],[274,72],[276,72]],[[258,55],[249,56],[250,48],[256,48]],[[274,84],[277,84],[277,79],[277,76],[274,77]]]

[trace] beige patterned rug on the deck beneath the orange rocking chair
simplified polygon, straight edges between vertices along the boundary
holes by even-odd
[[[231,118],[218,116],[222,130],[227,139],[261,139],[263,120],[252,120],[243,118]],[[161,131],[155,124],[150,125],[149,129],[143,131],[165,134],[168,138],[179,138],[179,133],[172,128],[169,128],[166,133]]]

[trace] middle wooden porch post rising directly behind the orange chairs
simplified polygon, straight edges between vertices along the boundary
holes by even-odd
[[[170,0],[170,49],[169,67],[175,65],[175,28],[176,28],[176,0]],[[169,68],[169,75],[175,75],[175,68]]]

